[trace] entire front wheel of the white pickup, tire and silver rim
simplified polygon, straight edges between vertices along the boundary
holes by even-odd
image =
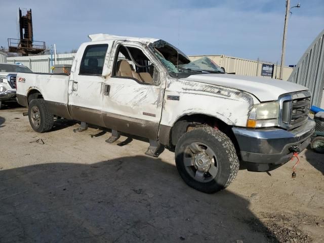
[[[206,193],[227,187],[239,168],[232,141],[213,128],[197,128],[182,135],[175,156],[182,179],[194,189]]]

